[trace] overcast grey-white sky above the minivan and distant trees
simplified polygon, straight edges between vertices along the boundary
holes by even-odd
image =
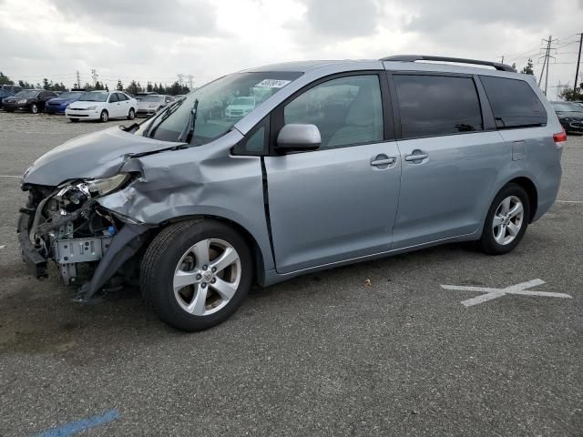
[[[199,86],[280,61],[430,54],[504,55],[518,69],[532,56],[538,75],[552,34],[557,86],[573,84],[578,32],[583,0],[0,0],[0,70],[72,86],[95,68],[110,87],[181,73]]]

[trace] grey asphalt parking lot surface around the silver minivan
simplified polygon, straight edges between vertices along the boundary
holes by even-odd
[[[0,436],[84,419],[90,436],[583,435],[583,137],[565,146],[559,201],[509,255],[454,244],[312,274],[185,334],[137,290],[80,306],[19,255],[22,172],[119,123],[0,112]],[[442,287],[533,279],[469,306],[488,291]]]

